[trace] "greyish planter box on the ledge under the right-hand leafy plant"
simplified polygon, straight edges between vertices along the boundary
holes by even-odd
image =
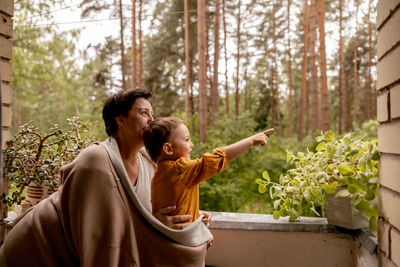
[[[368,228],[368,220],[362,213],[352,207],[349,197],[326,195],[325,215],[328,223],[347,229]]]

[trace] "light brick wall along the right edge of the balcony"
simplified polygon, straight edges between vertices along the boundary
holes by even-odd
[[[400,266],[400,0],[377,6],[380,266]]]

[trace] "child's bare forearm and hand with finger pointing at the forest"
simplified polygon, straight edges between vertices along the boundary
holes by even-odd
[[[268,143],[267,134],[270,134],[273,131],[274,128],[271,128],[261,133],[242,139],[232,145],[226,146],[225,152],[228,161],[237,158],[238,156],[249,150],[249,148],[252,146],[258,146],[258,145],[265,146]]]

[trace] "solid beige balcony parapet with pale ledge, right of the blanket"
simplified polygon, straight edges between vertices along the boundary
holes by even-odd
[[[207,266],[378,266],[376,238],[329,225],[272,215],[212,212]]]

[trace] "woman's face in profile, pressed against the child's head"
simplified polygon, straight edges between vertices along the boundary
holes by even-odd
[[[146,98],[137,98],[126,117],[118,118],[118,132],[125,137],[142,140],[142,129],[153,121],[153,108]]]

